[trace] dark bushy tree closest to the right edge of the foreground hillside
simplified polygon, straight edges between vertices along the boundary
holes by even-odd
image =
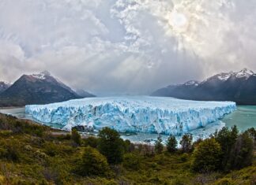
[[[244,132],[232,147],[230,165],[232,169],[240,169],[252,164],[254,157],[254,142],[248,132]]]

